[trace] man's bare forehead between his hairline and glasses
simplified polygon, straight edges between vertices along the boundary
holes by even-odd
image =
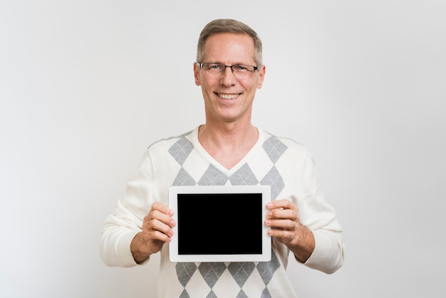
[[[254,40],[248,34],[214,34],[204,43],[207,62],[250,64],[254,63],[254,54]]]

